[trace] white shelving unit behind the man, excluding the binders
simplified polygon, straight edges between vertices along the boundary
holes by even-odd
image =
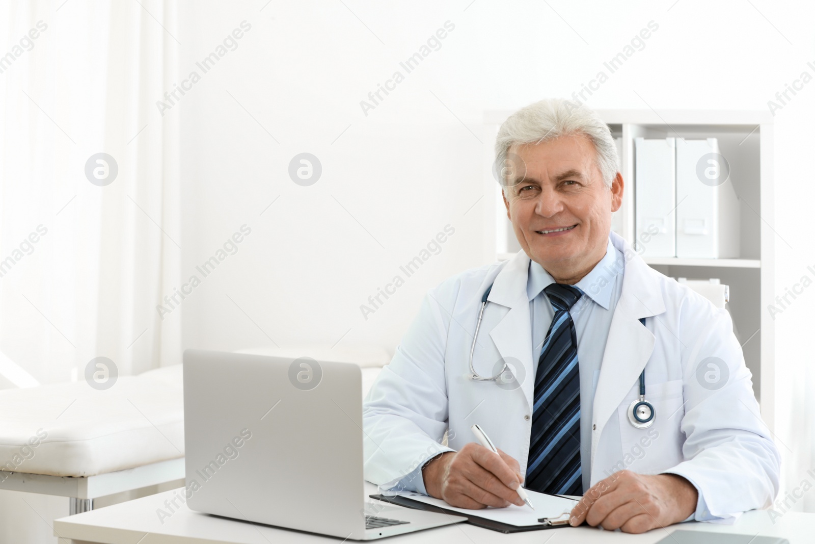
[[[484,113],[484,136],[489,142],[485,157],[485,258],[509,259],[520,250],[512,225],[506,218],[500,185],[492,174],[493,145],[500,124],[510,111]],[[720,153],[730,164],[730,179],[740,206],[738,259],[645,259],[666,276],[689,279],[719,278],[730,286],[728,309],[734,332],[742,344],[744,359],[753,375],[753,389],[761,414],[770,430],[775,428],[774,325],[765,310],[773,303],[773,117],[765,111],[703,110],[599,110],[612,135],[622,138],[620,172],[625,188],[618,233],[634,240],[634,139],[685,139],[715,137]]]

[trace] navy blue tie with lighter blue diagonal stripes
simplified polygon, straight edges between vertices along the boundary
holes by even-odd
[[[555,312],[535,373],[532,434],[524,486],[540,493],[583,495],[580,471],[580,374],[569,309],[583,291],[553,283],[544,289]]]

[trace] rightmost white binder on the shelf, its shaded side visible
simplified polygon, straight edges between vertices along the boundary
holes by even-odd
[[[739,204],[716,138],[676,142],[676,256],[739,255]]]

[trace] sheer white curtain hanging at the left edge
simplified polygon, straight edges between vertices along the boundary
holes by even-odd
[[[181,309],[156,312],[181,259],[178,115],[156,108],[174,2],[0,10],[0,387],[81,380],[97,356],[120,375],[180,362]],[[88,179],[97,153],[115,179],[109,160]]]

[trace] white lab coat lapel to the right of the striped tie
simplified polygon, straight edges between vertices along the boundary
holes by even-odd
[[[655,337],[640,323],[641,317],[659,316],[665,303],[655,272],[614,232],[611,243],[623,252],[626,261],[623,290],[611,318],[606,350],[594,394],[592,422],[592,470],[597,444],[609,418],[637,383],[642,369],[654,352]]]

